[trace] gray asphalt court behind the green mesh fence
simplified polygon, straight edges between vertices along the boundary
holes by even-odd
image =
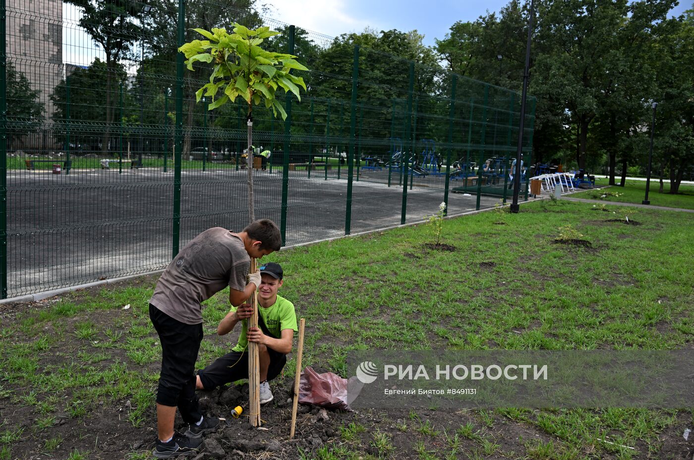
[[[343,236],[347,170],[290,171],[286,245]],[[355,172],[356,175],[356,172]],[[255,217],[280,224],[282,172],[255,171]],[[8,296],[164,268],[172,257],[174,172],[141,168],[8,172]],[[248,222],[245,170],[212,163],[181,172],[180,246],[210,227]],[[436,213],[445,177],[415,177],[406,222]],[[451,183],[455,186],[455,182]],[[473,211],[474,195],[450,193],[449,214]],[[482,197],[480,206],[499,200]],[[351,233],[400,224],[397,172],[359,172],[353,180]]]

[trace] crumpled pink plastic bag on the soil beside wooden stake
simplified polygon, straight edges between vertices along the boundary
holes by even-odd
[[[359,395],[362,386],[364,384],[357,377],[350,377],[348,380],[332,372],[319,374],[309,366],[301,372],[299,402],[316,404],[326,409],[352,411],[349,404]]]

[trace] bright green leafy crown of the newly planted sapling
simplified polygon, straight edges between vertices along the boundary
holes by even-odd
[[[185,54],[185,64],[194,70],[195,63],[214,65],[210,83],[196,91],[196,100],[203,96],[212,97],[209,109],[214,110],[227,102],[234,102],[237,97],[246,101],[249,107],[264,102],[266,108],[272,108],[273,114],[287,117],[285,108],[276,99],[278,88],[291,92],[301,101],[299,88],[306,90],[303,78],[292,75],[292,69],[308,70],[291,54],[266,51],[260,44],[266,39],[278,35],[269,27],[249,29],[241,24],[234,24],[233,33],[225,28],[193,29],[207,40],[193,40],[183,44],[179,51]]]

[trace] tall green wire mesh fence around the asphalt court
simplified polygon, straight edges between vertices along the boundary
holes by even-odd
[[[511,199],[516,92],[220,3],[0,9],[3,298],[159,270],[200,231],[248,223],[246,107],[196,103],[209,71],[176,53],[193,27],[270,26],[264,46],[309,68],[287,120],[253,113],[255,215],[285,245]]]

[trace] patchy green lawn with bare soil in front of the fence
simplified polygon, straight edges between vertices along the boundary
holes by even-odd
[[[421,225],[271,254],[285,270],[280,293],[306,318],[303,364],[347,377],[346,356],[364,348],[693,347],[691,215],[614,215],[561,200],[521,211],[446,220],[443,243],[455,252],[423,247],[432,229]],[[606,222],[624,213],[641,225]],[[566,225],[590,247],[553,243]],[[0,306],[0,459],[150,458],[160,350],[147,300],[155,281]],[[213,336],[226,297],[204,311],[201,366],[237,338]],[[289,388],[293,375],[291,359],[273,391]],[[286,413],[282,401],[264,414]],[[682,438],[693,416],[691,408],[381,409],[322,422],[304,412],[296,442],[287,441],[287,422],[261,436],[281,444],[264,458],[282,459],[679,459],[694,449],[693,436]],[[321,437],[309,438],[316,427]]]

